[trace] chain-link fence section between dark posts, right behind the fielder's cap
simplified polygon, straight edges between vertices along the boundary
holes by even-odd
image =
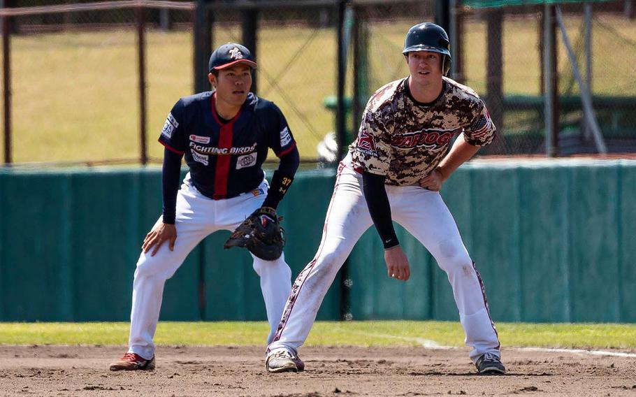
[[[337,89],[335,3],[256,10],[256,71],[252,90],[280,107],[301,157],[317,158],[317,145],[333,130],[335,112],[324,99]],[[243,8],[212,7],[212,48],[243,43]],[[254,50],[254,49],[252,49]]]

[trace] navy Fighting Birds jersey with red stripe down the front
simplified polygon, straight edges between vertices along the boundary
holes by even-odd
[[[180,99],[168,114],[159,142],[185,154],[191,181],[210,198],[250,192],[263,180],[268,147],[278,157],[296,147],[287,120],[272,102],[252,94],[232,120],[219,120],[214,92]]]

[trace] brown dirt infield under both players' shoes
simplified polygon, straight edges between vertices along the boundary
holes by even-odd
[[[262,347],[159,347],[157,370],[112,373],[124,347],[0,346],[1,396],[636,396],[636,357],[506,348],[505,376],[468,349],[305,347],[304,373],[268,374]],[[633,352],[632,352],[633,353]]]

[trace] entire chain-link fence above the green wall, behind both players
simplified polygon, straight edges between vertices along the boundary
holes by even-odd
[[[13,6],[41,3],[16,0]],[[154,140],[166,114],[180,96],[194,92],[196,3],[46,3],[59,5],[19,8],[22,14],[11,16],[6,29],[12,161],[138,162],[144,155],[160,161],[162,147]],[[212,3],[212,48],[243,42],[244,2]],[[344,18],[335,0],[272,3],[250,2],[256,12],[256,92],[283,110],[303,160],[333,159],[335,140],[329,133],[336,127],[339,24],[347,51],[350,141],[368,96],[408,74],[401,55],[404,36],[413,24],[435,20],[435,0],[349,0]],[[626,9],[630,3],[593,3],[590,29],[584,5],[561,7],[583,81],[588,81],[589,37],[592,105],[609,152],[636,151],[636,23]],[[452,77],[485,99],[500,131],[481,154],[547,153],[543,13],[543,6],[454,9]],[[561,31],[554,31],[558,154],[596,152],[579,82]]]

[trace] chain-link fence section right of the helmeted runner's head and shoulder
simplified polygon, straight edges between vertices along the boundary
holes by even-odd
[[[588,5],[591,10],[588,29],[586,5],[560,6],[581,81],[591,86],[594,115],[608,152],[636,151],[636,116],[632,110],[636,106],[633,78],[636,75],[636,23],[630,13],[626,13],[625,5],[625,1]],[[501,73],[489,77],[487,68],[492,55],[487,51],[488,41],[496,38],[489,38],[488,25],[493,20],[492,14],[497,12],[502,13]],[[496,104],[489,93],[489,78],[500,78],[502,90],[500,110],[494,112],[500,113],[500,139],[483,151],[486,154],[546,153],[543,17],[543,6],[463,9],[465,83],[484,96],[489,106]],[[584,115],[581,90],[563,31],[557,22],[554,31],[558,87],[556,154],[598,152],[592,127]],[[589,64],[588,52],[591,54]]]

